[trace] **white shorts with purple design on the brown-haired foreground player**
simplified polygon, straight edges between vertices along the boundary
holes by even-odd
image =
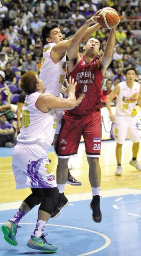
[[[46,151],[38,144],[17,144],[12,154],[16,189],[57,187]]]

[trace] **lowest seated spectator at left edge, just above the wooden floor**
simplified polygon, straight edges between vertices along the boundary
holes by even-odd
[[[11,147],[16,144],[14,127],[6,120],[6,115],[0,113],[0,147]]]

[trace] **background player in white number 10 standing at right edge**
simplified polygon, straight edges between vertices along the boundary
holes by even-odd
[[[137,162],[137,154],[139,152],[141,137],[138,130],[136,119],[137,112],[135,109],[136,103],[141,107],[141,85],[138,82],[135,82],[136,75],[137,73],[134,68],[126,69],[126,82],[120,82],[116,85],[106,100],[106,106],[110,113],[110,120],[115,123],[113,126],[113,134],[117,141],[116,158],[118,166],[116,175],[122,174],[122,144],[126,138],[133,141],[133,158],[129,163],[138,171],[141,171],[141,165]],[[111,111],[110,102],[116,95],[118,95],[118,100],[116,114],[114,116]]]

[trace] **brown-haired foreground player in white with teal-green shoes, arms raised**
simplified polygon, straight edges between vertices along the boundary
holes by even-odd
[[[50,168],[46,151],[50,148],[56,128],[57,109],[72,109],[76,105],[74,80],[67,83],[68,98],[57,98],[44,93],[45,86],[35,72],[26,72],[19,80],[26,93],[22,109],[22,128],[12,154],[12,169],[16,189],[29,187],[31,194],[24,199],[16,214],[1,229],[4,239],[17,246],[16,232],[19,221],[36,205],[38,220],[27,246],[44,252],[56,252],[57,246],[47,243],[43,234],[55,207],[59,192],[55,175]]]

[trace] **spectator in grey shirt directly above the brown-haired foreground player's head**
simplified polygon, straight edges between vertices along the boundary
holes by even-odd
[[[32,60],[31,53],[26,54],[26,61],[23,62],[21,71],[23,74],[27,71],[35,71],[37,74],[39,73],[37,63]]]

